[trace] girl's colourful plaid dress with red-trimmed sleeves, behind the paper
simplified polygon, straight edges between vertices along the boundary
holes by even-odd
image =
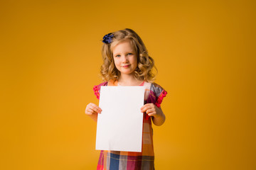
[[[100,86],[119,86],[117,81],[105,81],[94,86],[95,96],[100,99]],[[143,82],[140,86],[145,86],[144,104],[154,103],[160,107],[167,92],[158,84]],[[142,130],[142,152],[100,152],[97,170],[154,170],[154,147],[153,129],[151,118],[144,113]]]

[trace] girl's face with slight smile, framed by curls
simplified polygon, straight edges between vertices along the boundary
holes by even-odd
[[[134,74],[137,68],[137,53],[131,40],[124,40],[115,45],[112,49],[114,65],[122,74]]]

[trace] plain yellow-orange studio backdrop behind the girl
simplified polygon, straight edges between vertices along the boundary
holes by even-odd
[[[156,169],[256,169],[255,1],[1,1],[0,169],[96,169],[103,35],[134,29],[168,91]]]

